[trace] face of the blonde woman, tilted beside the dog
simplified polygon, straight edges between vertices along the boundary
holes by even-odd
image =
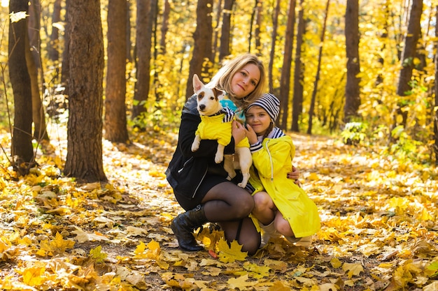
[[[232,93],[237,99],[248,96],[260,80],[260,70],[255,64],[247,64],[237,71],[231,80]]]

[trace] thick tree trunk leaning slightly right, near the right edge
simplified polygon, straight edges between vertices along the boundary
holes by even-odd
[[[393,113],[394,122],[393,128],[398,125],[406,126],[408,112],[402,110],[404,107],[403,96],[412,89],[411,82],[412,70],[414,70],[414,59],[416,57],[418,38],[421,33],[421,14],[423,13],[423,0],[413,1],[411,6],[411,14],[409,16],[409,24],[407,34],[404,38],[404,48],[402,52],[402,69],[400,70],[397,95],[400,96],[395,112]],[[397,116],[402,117],[401,123],[397,121]],[[392,137],[390,141],[393,142]]]

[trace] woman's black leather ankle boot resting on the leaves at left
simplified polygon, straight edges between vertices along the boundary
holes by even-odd
[[[193,237],[193,230],[206,222],[204,205],[198,205],[195,209],[176,216],[171,223],[171,229],[178,239],[180,248],[191,252],[204,250],[204,247],[199,246]]]

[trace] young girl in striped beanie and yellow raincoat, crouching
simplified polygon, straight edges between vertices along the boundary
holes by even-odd
[[[283,234],[293,244],[309,247],[311,236],[320,230],[320,218],[316,204],[288,179],[295,146],[292,138],[274,125],[279,106],[276,96],[262,94],[246,108],[246,136],[257,173],[250,177],[256,189],[252,214],[264,232],[264,243]]]

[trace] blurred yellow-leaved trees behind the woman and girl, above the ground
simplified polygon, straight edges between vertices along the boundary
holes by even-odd
[[[8,114],[22,114],[20,103],[10,98],[15,97],[13,54],[3,53],[13,41],[6,40],[7,32],[15,25],[6,22],[7,2],[1,2],[0,10],[3,128],[8,128]],[[348,144],[379,145],[384,154],[400,159],[437,163],[436,1],[125,0],[110,5],[103,0],[99,23],[79,21],[76,28],[69,20],[77,21],[78,8],[71,1],[29,3],[28,50],[36,68],[27,64],[28,74],[38,76],[43,105],[38,109],[32,102],[32,107],[43,112],[46,121],[38,123],[34,114],[32,128],[22,130],[34,140],[48,140],[41,128],[54,119],[68,119],[71,110],[94,110],[85,116],[101,117],[102,128],[98,124],[92,131],[97,140],[102,129],[113,142],[129,142],[127,134],[133,128],[145,134],[176,131],[192,74],[208,82],[224,61],[249,51],[269,69],[269,90],[283,103],[277,123],[284,130],[334,134]],[[99,26],[105,53],[105,58],[99,57],[101,64],[90,54],[98,43],[90,38],[99,38],[90,31]],[[120,26],[125,33],[117,29]],[[71,33],[88,34],[75,43]],[[12,45],[10,50],[20,47]],[[72,52],[73,47],[84,51]],[[24,56],[22,48],[16,53]],[[84,64],[90,73],[93,66],[102,66],[104,75],[78,82],[80,71],[70,67],[72,61],[90,64]],[[101,83],[95,85],[104,90],[86,90],[83,83],[90,82]],[[71,98],[78,97],[72,94],[80,95],[76,109]],[[69,130],[71,126],[84,124],[69,124]],[[79,142],[85,137],[72,138]],[[23,158],[31,164],[29,155]]]

